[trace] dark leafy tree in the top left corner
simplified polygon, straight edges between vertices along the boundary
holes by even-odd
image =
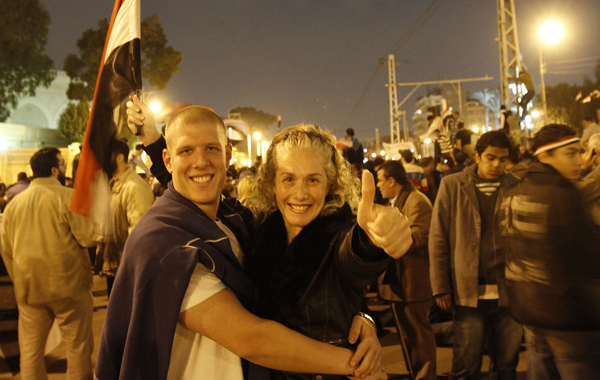
[[[43,54],[50,15],[39,0],[0,1],[0,121],[20,96],[35,95],[54,79],[53,62]]]

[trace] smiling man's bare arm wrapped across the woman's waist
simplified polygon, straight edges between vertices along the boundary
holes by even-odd
[[[350,375],[353,352],[317,342],[248,312],[228,289],[179,315],[179,322],[264,367],[291,372]],[[360,375],[357,373],[356,375]]]

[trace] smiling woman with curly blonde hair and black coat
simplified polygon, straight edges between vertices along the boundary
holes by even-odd
[[[315,125],[275,136],[248,198],[259,226],[246,270],[259,288],[258,315],[351,347],[348,333],[364,288],[389,257],[356,222],[360,181],[335,144],[333,134]],[[313,377],[276,372],[274,378]],[[345,377],[331,377],[338,378]]]

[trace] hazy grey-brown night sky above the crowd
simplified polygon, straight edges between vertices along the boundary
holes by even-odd
[[[109,18],[111,0],[41,0],[52,23],[46,50],[55,67],[76,53],[81,33]],[[562,22],[563,41],[544,50],[546,85],[594,78],[600,57],[600,1],[515,0],[525,65],[539,85],[537,29]],[[389,135],[387,69],[397,82],[482,77],[468,91],[499,86],[495,0],[142,0],[142,18],[158,14],[181,71],[160,92],[171,102],[202,104],[225,116],[253,106],[282,115],[282,125],[317,123],[338,137]],[[143,41],[142,41],[143,43]],[[370,86],[369,86],[369,83]],[[366,92],[365,92],[366,91]],[[400,88],[402,100],[410,88]],[[364,94],[364,96],[363,96]],[[406,103],[414,110],[416,92]],[[275,131],[275,128],[272,128]],[[272,137],[272,136],[271,136]]]

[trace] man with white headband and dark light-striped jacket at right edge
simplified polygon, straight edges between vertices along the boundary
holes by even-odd
[[[505,202],[506,280],[513,317],[526,328],[528,379],[600,379],[600,227],[575,187],[581,143],[543,127],[538,162]]]

